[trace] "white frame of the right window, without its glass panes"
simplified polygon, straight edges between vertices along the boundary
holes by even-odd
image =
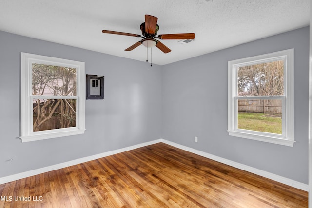
[[[228,61],[228,133],[246,139],[280,144],[292,147],[294,140],[294,98],[293,98],[293,49],[260,56]],[[241,96],[237,95],[237,69],[275,60],[284,60],[284,96]],[[237,128],[237,99],[282,99],[282,134],[257,132]]]

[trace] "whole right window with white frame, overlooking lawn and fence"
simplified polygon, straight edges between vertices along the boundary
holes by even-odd
[[[293,49],[228,62],[228,132],[293,146]]]

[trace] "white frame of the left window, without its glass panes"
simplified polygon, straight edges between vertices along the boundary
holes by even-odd
[[[77,96],[76,98],[76,127],[53,129],[45,131],[33,131],[33,99],[32,99],[32,64],[46,64],[76,68],[77,72]],[[84,62],[67,60],[56,57],[46,57],[36,54],[21,52],[21,136],[22,142],[37,141],[62,136],[82,134],[85,131],[84,102],[85,102],[85,78]],[[42,96],[42,98],[55,98]],[[59,97],[65,98],[65,97]],[[67,97],[66,97],[67,98]]]

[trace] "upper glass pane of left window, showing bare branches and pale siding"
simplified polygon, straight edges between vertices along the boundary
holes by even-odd
[[[76,96],[76,69],[33,63],[32,93],[45,96]]]

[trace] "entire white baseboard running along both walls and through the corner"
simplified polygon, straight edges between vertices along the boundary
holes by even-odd
[[[259,169],[256,169],[256,168],[253,168],[253,167],[250,167],[250,166],[246,166],[246,165],[234,162],[232,160],[228,160],[228,159],[224,159],[222,157],[215,156],[213,154],[209,154],[209,153],[206,153],[206,152],[203,152],[203,151],[198,151],[198,150],[195,150],[193,148],[189,148],[189,147],[186,147],[186,146],[183,146],[183,145],[180,145],[180,144],[177,144],[177,143],[165,140],[165,139],[156,139],[156,140],[153,140],[153,141],[150,141],[150,142],[145,142],[145,143],[141,143],[141,144],[138,144],[138,145],[133,145],[133,146],[126,147],[126,148],[121,148],[121,149],[114,150],[114,151],[107,151],[107,152],[103,152],[103,153],[100,153],[100,154],[91,155],[91,156],[88,156],[88,157],[83,157],[83,158],[80,158],[80,159],[71,160],[71,161],[68,161],[68,162],[59,163],[59,164],[56,164],[56,165],[47,166],[47,167],[36,169],[36,170],[30,170],[30,171],[21,172],[21,173],[14,174],[14,175],[2,177],[2,178],[0,178],[0,184],[5,184],[5,183],[11,182],[11,181],[19,180],[19,179],[30,177],[30,176],[33,176],[33,175],[38,175],[38,174],[41,174],[41,173],[44,173],[44,172],[49,172],[49,171],[52,171],[52,170],[58,170],[58,169],[61,169],[61,168],[66,168],[66,167],[69,167],[69,166],[77,165],[77,164],[88,162],[88,161],[91,161],[91,160],[96,160],[98,158],[110,156],[110,155],[117,154],[117,153],[124,152],[124,151],[134,150],[134,149],[137,149],[137,148],[140,148],[140,147],[156,144],[156,143],[159,143],[159,142],[163,142],[165,144],[174,146],[174,147],[179,148],[181,150],[189,151],[189,152],[192,152],[192,153],[198,154],[200,156],[203,156],[203,157],[215,160],[215,161],[220,162],[220,163],[224,163],[226,165],[230,165],[232,167],[235,167],[235,168],[238,168],[238,169],[241,169],[241,170],[246,170],[248,172],[260,175],[260,176],[265,177],[265,178],[272,179],[274,181],[286,184],[288,186],[291,186],[291,187],[294,187],[294,188],[297,188],[297,189],[301,189],[301,190],[304,190],[304,191],[309,191],[308,184],[300,183],[300,182],[297,182],[297,181],[294,181],[294,180],[291,180],[291,179],[288,179],[288,178],[285,178],[285,177],[282,177],[282,176],[279,176],[279,175],[275,175],[275,174],[267,172],[267,171],[263,171],[263,170],[259,170]]]

